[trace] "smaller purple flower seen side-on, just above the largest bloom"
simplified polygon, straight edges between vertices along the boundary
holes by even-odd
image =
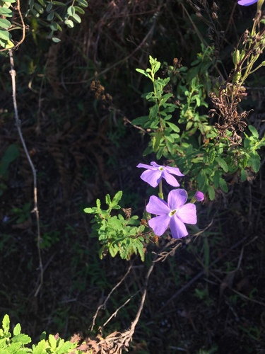
[[[173,187],[179,187],[179,183],[177,182],[176,178],[171,176],[171,174],[184,176],[177,167],[160,166],[154,161],[151,162],[151,166],[139,164],[136,167],[139,167],[140,169],[147,169],[141,174],[140,177],[143,181],[152,185],[152,187],[156,187],[162,178],[165,178],[165,181],[167,181],[167,183]]]

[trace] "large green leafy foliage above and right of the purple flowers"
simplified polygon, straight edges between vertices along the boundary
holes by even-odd
[[[233,132],[227,130],[225,135],[220,135],[208,116],[201,113],[201,108],[208,107],[204,87],[210,88],[210,79],[204,71],[213,60],[213,49],[202,49],[203,54],[198,55],[191,69],[169,68],[169,77],[165,79],[156,77],[160,62],[152,57],[150,68],[136,69],[152,81],[153,91],[143,95],[151,103],[149,115],[136,118],[132,124],[148,130],[151,137],[144,155],[155,153],[158,160],[162,157],[174,160],[189,175],[193,188],[207,193],[213,200],[216,190],[228,192],[231,178],[245,181],[249,169],[259,171],[257,150],[264,146],[265,139],[260,140],[257,130],[250,125],[250,134],[240,138],[243,144],[231,144]],[[178,101],[168,92],[173,77],[176,83],[179,81]]]

